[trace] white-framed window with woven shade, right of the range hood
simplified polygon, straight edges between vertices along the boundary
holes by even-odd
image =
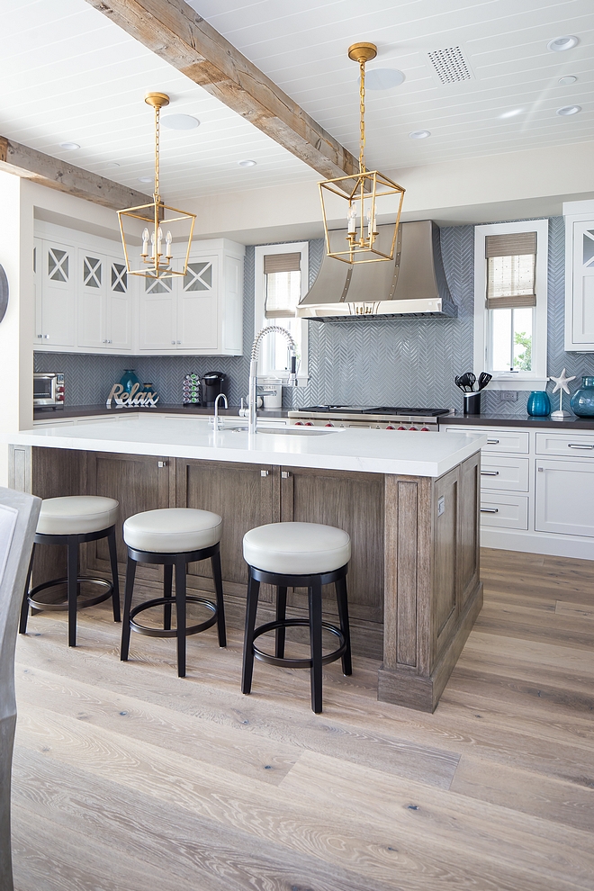
[[[545,389],[548,220],[474,230],[474,367],[491,389]]]

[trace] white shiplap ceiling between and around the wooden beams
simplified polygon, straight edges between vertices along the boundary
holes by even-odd
[[[193,8],[354,154],[358,153],[355,40],[378,45],[368,66],[404,82],[367,93],[367,164],[386,172],[445,160],[594,139],[593,0],[191,0]],[[0,134],[150,192],[152,116],[143,96],[196,130],[164,130],[162,191],[169,202],[318,174],[131,39],[85,0],[2,0]],[[575,49],[549,40],[575,34]],[[473,79],[441,85],[430,50],[458,46]],[[562,76],[577,77],[561,86]],[[560,117],[563,105],[582,111]],[[518,111],[521,110],[521,111]],[[511,117],[501,117],[518,112]],[[164,114],[166,112],[163,112]],[[430,130],[412,140],[413,130]],[[81,148],[65,152],[59,143]],[[242,168],[238,160],[257,166]],[[110,163],[119,166],[110,167]],[[554,175],[554,172],[552,172]]]

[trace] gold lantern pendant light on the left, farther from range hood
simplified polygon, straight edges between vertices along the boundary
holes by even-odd
[[[152,202],[118,211],[121,243],[126,269],[130,275],[142,275],[145,278],[172,278],[175,275],[187,273],[196,215],[179,211],[175,207],[168,207],[159,193],[159,112],[169,104],[169,96],[165,93],[148,93],[144,97],[144,101],[155,109],[155,191]],[[144,228],[142,224],[144,224]],[[132,250],[130,245],[139,244],[140,241],[142,248],[139,259],[142,266],[135,269],[130,261]],[[183,246],[179,252],[179,259],[174,257],[174,241]]]

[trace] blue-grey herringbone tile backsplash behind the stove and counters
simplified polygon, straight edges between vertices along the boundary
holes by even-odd
[[[594,354],[563,350],[562,217],[550,220],[549,233],[549,374],[560,374],[563,367],[568,374],[594,374]],[[462,394],[454,378],[473,367],[473,227],[441,229],[441,245],[458,318],[310,322],[310,383],[296,391],[285,390],[287,406],[329,402],[462,408]],[[323,251],[321,239],[310,242],[310,284],[320,269]],[[228,375],[229,401],[238,405],[240,397],[247,395],[253,317],[254,247],[247,247],[243,356],[36,353],[35,371],[66,374],[68,405],[101,404],[126,368],[134,368],[142,382],[153,383],[165,402],[181,402],[184,374],[222,371]],[[522,415],[527,395],[518,392],[518,401],[500,402],[497,392],[486,392],[482,407],[504,415]],[[555,395],[555,408],[556,399]]]

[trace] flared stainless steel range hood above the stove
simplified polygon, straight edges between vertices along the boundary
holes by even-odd
[[[379,227],[379,247],[390,252],[392,226]],[[341,245],[344,231],[330,233]],[[300,319],[332,321],[374,316],[455,317],[432,220],[401,223],[393,260],[353,266],[324,257],[320,274],[297,307]]]

